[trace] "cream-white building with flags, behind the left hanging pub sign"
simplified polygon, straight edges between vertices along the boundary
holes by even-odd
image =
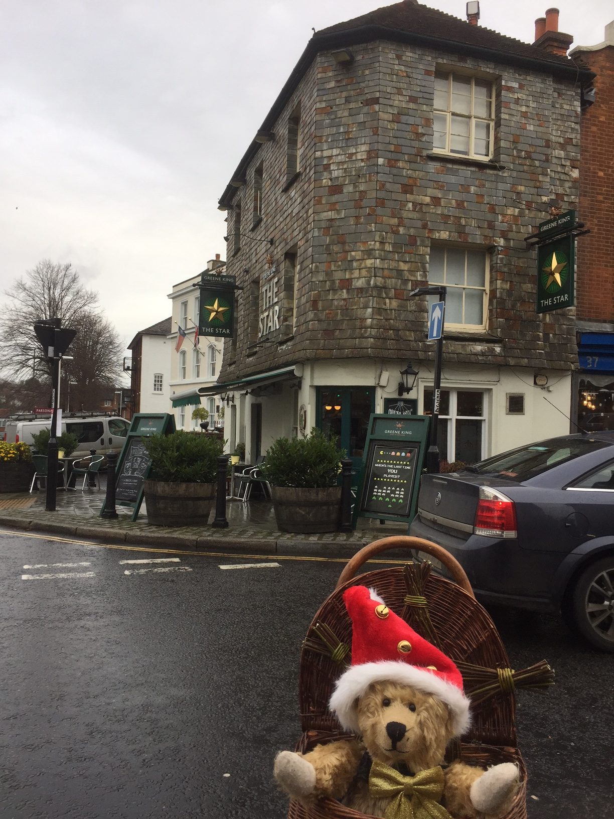
[[[208,270],[223,273],[226,263],[219,258],[207,262]],[[169,334],[170,349],[170,393],[169,399],[174,409],[175,424],[178,429],[198,429],[199,422],[192,421],[192,410],[202,405],[209,410],[209,427],[223,425],[223,403],[219,396],[204,397],[198,395],[198,387],[214,384],[222,364],[223,339],[217,337],[197,337],[195,331],[200,313],[200,290],[193,285],[201,281],[200,274],[187,278],[173,285],[169,299],[173,303],[171,329]],[[179,344],[179,328],[185,333]],[[167,405],[168,406],[168,405]],[[220,417],[221,414],[221,417]]]

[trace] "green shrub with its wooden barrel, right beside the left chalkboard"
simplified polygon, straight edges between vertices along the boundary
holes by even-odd
[[[148,522],[205,526],[215,500],[223,441],[183,430],[142,441],[151,458],[151,474],[143,484]]]

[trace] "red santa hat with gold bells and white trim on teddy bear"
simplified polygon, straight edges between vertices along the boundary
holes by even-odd
[[[341,726],[359,733],[356,700],[372,682],[391,680],[445,702],[454,735],[464,734],[469,700],[452,660],[388,609],[374,590],[351,586],[343,600],[352,621],[352,665],[336,681],[329,704]]]

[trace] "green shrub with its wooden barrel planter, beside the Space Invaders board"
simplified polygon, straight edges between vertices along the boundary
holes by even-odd
[[[273,441],[260,474],[273,490],[281,532],[336,532],[341,515],[341,450],[335,437],[313,428],[305,438]]]

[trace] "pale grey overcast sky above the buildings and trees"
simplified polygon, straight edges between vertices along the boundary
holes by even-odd
[[[0,290],[49,258],[100,293],[124,342],[226,250],[217,202],[314,29],[378,0],[2,0]],[[433,0],[464,18],[465,0]],[[532,42],[548,0],[482,0]],[[574,45],[612,0],[559,0]]]

